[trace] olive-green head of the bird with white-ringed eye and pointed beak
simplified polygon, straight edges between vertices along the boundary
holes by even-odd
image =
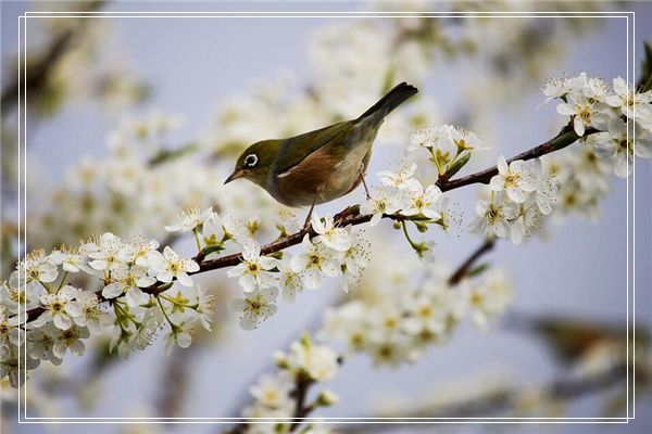
[[[246,178],[266,189],[281,142],[281,140],[263,140],[247,148],[238,157],[234,173],[224,183]]]

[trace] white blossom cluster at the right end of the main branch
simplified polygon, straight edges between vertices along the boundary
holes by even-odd
[[[609,174],[627,177],[635,155],[652,158],[652,91],[635,92],[620,77],[610,89],[581,73],[551,80],[543,93],[546,102],[560,100],[556,111],[570,117],[580,145],[509,164],[501,156],[490,197],[478,203],[471,231],[517,244],[540,232],[551,214],[560,219],[576,210],[595,217],[609,191]]]

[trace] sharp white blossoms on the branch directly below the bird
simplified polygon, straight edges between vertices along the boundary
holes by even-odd
[[[227,277],[237,278],[243,296],[231,299],[231,309],[239,315],[240,326],[252,330],[276,314],[279,292],[286,303],[293,303],[297,293],[322,288],[326,278],[341,277],[341,288],[349,292],[367,265],[367,241],[352,228],[340,227],[333,216],[321,218],[313,213],[310,220],[315,235],[305,233],[299,252],[287,250],[271,256],[261,251],[254,239],[255,225],[244,225],[233,214],[222,218],[208,208],[189,209],[178,222],[167,226],[171,232],[192,231],[198,250],[210,260],[220,252],[235,245],[241,248],[240,263],[229,269]],[[293,220],[278,224],[280,237],[299,230]]]

